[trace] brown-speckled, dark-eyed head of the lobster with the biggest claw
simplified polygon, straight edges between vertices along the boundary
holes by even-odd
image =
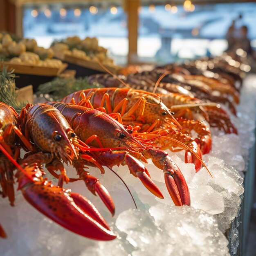
[[[29,108],[27,125],[34,144],[66,164],[77,158],[77,137],[66,119],[53,106],[36,104]]]

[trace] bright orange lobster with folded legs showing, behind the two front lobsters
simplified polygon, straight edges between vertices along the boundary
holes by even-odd
[[[141,133],[153,131],[155,134],[166,129],[168,132],[172,131],[173,135],[170,136],[175,136],[176,140],[189,146],[195,155],[201,158],[200,148],[194,139],[186,132],[175,132],[182,127],[157,94],[127,88],[99,88],[99,90],[95,88],[74,92],[61,101],[78,103],[89,108],[105,107],[108,113],[119,112],[121,118],[118,121],[139,128]],[[180,144],[175,143],[174,146],[177,148]],[[185,162],[195,164],[196,171],[199,171],[202,164],[195,155],[191,155],[190,151],[186,150]]]

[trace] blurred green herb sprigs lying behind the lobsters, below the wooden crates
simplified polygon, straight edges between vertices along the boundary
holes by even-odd
[[[43,96],[49,101],[60,101],[68,94],[83,89],[103,87],[99,83],[88,83],[88,79],[79,77],[75,78],[55,78],[51,82],[39,85],[37,96]]]

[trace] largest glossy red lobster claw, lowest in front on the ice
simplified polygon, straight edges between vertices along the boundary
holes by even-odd
[[[45,180],[29,183],[21,190],[33,207],[66,229],[96,240],[116,238],[96,207],[82,195]]]

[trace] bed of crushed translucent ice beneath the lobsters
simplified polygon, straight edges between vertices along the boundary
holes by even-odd
[[[146,164],[152,179],[164,195],[160,200],[151,195],[141,182],[129,174],[126,166],[113,169],[128,185],[132,197],[119,178],[106,168],[92,175],[110,191],[116,205],[111,217],[98,197],[92,195],[82,181],[65,185],[89,198],[116,232],[117,239],[99,242],[83,238],[55,224],[28,204],[20,192],[15,207],[7,199],[0,200],[0,222],[8,239],[0,240],[1,255],[28,256],[141,256],[141,255],[229,255],[228,240],[223,233],[237,216],[243,194],[243,173],[248,150],[254,143],[256,78],[248,76],[238,117],[232,117],[239,135],[213,131],[213,149],[204,155],[206,166],[195,174],[193,164],[184,164],[184,152],[170,153],[182,170],[191,193],[191,207],[175,207],[164,184],[164,174],[153,164]],[[182,160],[181,160],[182,159]],[[73,168],[68,173],[75,177]],[[50,177],[49,173],[47,175]],[[242,175],[242,176],[241,176]],[[54,179],[53,179],[54,180]],[[56,183],[56,180],[54,180]],[[231,234],[231,253],[236,253],[239,234]]]

